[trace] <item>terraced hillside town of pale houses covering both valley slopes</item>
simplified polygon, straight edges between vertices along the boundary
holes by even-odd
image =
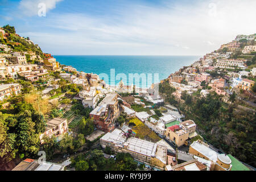
[[[204,137],[189,105],[211,97],[228,109],[236,103],[255,125],[255,38],[238,35],[142,89],[122,80],[110,86],[95,73],[62,65],[14,27],[0,28],[1,170],[254,171],[255,156],[243,160]],[[254,133],[254,125],[243,125],[241,136]]]

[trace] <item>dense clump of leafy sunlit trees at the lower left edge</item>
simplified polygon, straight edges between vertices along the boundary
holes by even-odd
[[[39,151],[39,134],[46,121],[31,104],[11,100],[7,110],[0,111],[0,163],[7,164],[18,156],[30,157]]]

